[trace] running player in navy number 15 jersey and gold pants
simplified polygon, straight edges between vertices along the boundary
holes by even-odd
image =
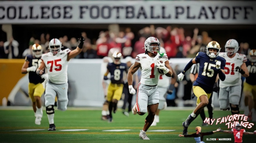
[[[208,43],[206,46],[206,53],[199,52],[195,58],[187,63],[184,70],[178,75],[180,81],[183,80],[185,72],[192,67],[193,64],[199,63],[199,73],[196,81],[193,83],[193,92],[197,97],[197,106],[195,110],[188,115],[185,122],[182,123],[183,135],[187,135],[187,128],[194,121],[201,112],[201,110],[208,105],[208,99],[213,92],[213,87],[217,75],[219,79],[224,81],[226,60],[219,57],[220,46],[216,41]]]

